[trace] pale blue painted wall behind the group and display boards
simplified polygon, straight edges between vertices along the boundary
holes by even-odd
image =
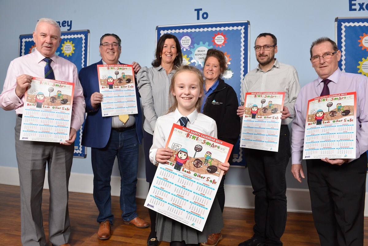
[[[155,50],[157,25],[188,24],[220,21],[250,21],[250,39],[254,43],[261,32],[271,32],[278,42],[277,59],[296,67],[301,86],[316,78],[309,61],[309,47],[316,38],[328,36],[335,39],[336,17],[361,17],[368,11],[359,10],[362,0],[247,0],[247,1],[5,1],[0,0],[1,59],[0,81],[4,81],[11,60],[18,56],[20,34],[32,33],[39,18],[56,21],[72,21],[72,30],[91,31],[89,64],[100,60],[99,38],[105,33],[116,33],[122,38],[120,60],[124,63],[137,61],[141,66],[150,66]],[[349,3],[355,4],[349,11]],[[368,6],[367,6],[368,7]],[[206,20],[197,20],[194,9],[202,8],[208,13]],[[62,27],[61,31],[67,31]],[[252,46],[252,45],[251,45]],[[250,68],[257,65],[255,52],[251,49]],[[3,82],[0,82],[2,88]],[[16,167],[14,150],[14,111],[0,110],[0,166]],[[141,149],[140,178],[145,177],[144,157]],[[72,172],[92,173],[90,150],[86,159],[74,159]],[[114,175],[118,175],[115,170]],[[250,185],[247,169],[233,168],[226,175],[226,183]],[[289,188],[307,188],[304,181],[297,183],[287,168]]]

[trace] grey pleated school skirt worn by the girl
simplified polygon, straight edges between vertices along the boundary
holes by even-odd
[[[219,233],[223,227],[224,222],[217,196],[213,200],[202,232],[159,213],[156,217],[156,231],[159,241],[185,241],[186,244],[204,243],[207,242],[208,235]]]

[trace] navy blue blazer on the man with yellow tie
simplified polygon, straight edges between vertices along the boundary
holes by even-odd
[[[102,117],[101,108],[93,109],[91,106],[91,95],[99,92],[97,65],[103,64],[102,60],[98,63],[84,67],[79,71],[79,81],[83,87],[83,95],[86,101],[87,117],[84,123],[82,133],[82,145],[93,148],[103,148],[110,139],[111,118],[112,116]],[[135,127],[139,144],[142,143],[142,110],[141,101],[139,100],[139,92],[137,80],[135,80],[135,92],[137,94],[138,114],[135,115]]]

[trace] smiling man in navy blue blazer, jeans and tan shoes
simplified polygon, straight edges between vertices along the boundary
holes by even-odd
[[[145,228],[149,223],[138,217],[135,193],[137,190],[138,147],[141,144],[142,112],[136,83],[138,114],[129,115],[128,119],[119,116],[102,117],[99,93],[98,64],[122,64],[118,61],[121,53],[121,39],[116,34],[105,34],[100,39],[102,59],[95,64],[82,68],[79,80],[86,100],[87,117],[82,135],[82,145],[91,147],[93,169],[93,198],[99,210],[97,222],[100,223],[98,238],[110,238],[110,225],[114,215],[111,212],[111,173],[115,158],[121,176],[120,208],[125,224]],[[134,72],[141,66],[133,61]]]

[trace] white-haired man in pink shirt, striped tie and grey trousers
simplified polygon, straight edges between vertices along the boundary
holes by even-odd
[[[78,80],[77,67],[70,61],[55,55],[59,47],[60,27],[51,19],[42,18],[36,24],[33,53],[10,62],[5,78],[0,106],[4,110],[15,110],[15,151],[21,193],[21,241],[23,246],[46,245],[41,211],[43,181],[46,162],[50,188],[49,239],[53,245],[70,246],[70,221],[68,214],[68,182],[73,159],[77,130],[84,121],[85,102]],[[32,77],[45,77],[43,59],[51,59],[54,77],[59,81],[74,82],[74,96],[69,140],[64,143],[22,141],[24,94]]]

